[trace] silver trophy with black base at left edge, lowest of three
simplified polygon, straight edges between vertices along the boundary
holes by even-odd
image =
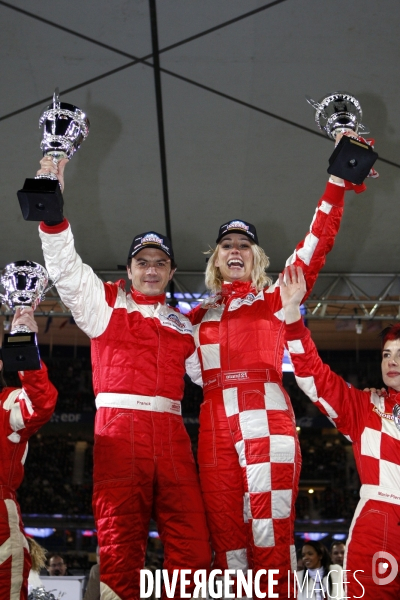
[[[19,260],[7,265],[2,272],[0,282],[5,293],[0,301],[11,310],[19,306],[31,306],[33,309],[44,299],[49,276],[44,267],[29,260]],[[4,334],[2,347],[4,367],[8,371],[29,371],[40,369],[40,354],[36,333],[26,325],[18,325],[10,333]]]

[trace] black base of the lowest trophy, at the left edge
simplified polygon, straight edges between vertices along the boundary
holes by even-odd
[[[36,333],[5,333],[1,354],[5,371],[40,369]]]

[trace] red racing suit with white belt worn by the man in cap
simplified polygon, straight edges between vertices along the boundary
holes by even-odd
[[[173,569],[208,569],[211,562],[180,404],[185,371],[201,384],[192,325],[165,304],[165,295],[127,294],[121,282],[102,282],[77,255],[67,221],[42,223],[40,236],[60,297],[91,338],[101,598],[134,600],[151,516],[171,576]]]

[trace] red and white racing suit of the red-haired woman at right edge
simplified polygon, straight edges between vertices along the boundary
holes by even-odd
[[[286,341],[299,387],[353,443],[362,486],[346,546],[346,597],[397,600],[400,575],[389,580],[400,564],[400,430],[392,415],[400,393],[389,388],[380,398],[346,383],[322,362],[302,320],[286,325]]]

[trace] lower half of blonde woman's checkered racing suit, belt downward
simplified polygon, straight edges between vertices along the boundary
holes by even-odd
[[[281,377],[274,369],[221,371],[204,389],[198,463],[214,568],[279,569],[286,597],[301,455]]]

